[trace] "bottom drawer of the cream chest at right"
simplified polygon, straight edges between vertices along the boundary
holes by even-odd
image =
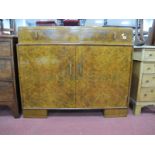
[[[140,101],[155,101],[155,88],[141,88]]]

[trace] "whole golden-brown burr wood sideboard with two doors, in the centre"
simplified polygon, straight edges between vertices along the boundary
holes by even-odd
[[[24,117],[46,117],[48,109],[127,116],[132,50],[130,28],[19,28]]]

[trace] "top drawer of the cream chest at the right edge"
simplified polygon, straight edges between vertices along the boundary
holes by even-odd
[[[155,61],[155,49],[146,49],[144,51],[144,60]]]

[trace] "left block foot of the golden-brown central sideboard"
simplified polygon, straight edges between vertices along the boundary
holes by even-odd
[[[46,118],[47,110],[42,109],[24,109],[23,110],[24,118]]]

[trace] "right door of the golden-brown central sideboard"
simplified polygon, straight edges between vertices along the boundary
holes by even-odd
[[[77,47],[77,108],[126,107],[131,61],[132,47]]]

